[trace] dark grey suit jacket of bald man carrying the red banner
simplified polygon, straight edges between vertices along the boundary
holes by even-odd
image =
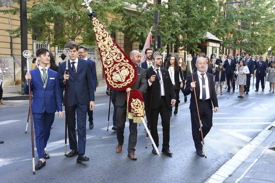
[[[144,94],[147,90],[146,71],[140,66],[137,66],[138,78],[136,82],[131,86],[132,90],[139,90],[141,94]],[[116,106],[123,107],[126,103],[126,91],[116,92]]]

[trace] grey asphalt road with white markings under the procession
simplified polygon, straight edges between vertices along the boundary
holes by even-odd
[[[252,82],[251,82],[252,83]],[[238,150],[259,134],[275,119],[275,94],[255,92],[244,99],[231,93],[227,99],[218,95],[219,112],[213,115],[213,127],[205,138],[207,159],[196,155],[189,112],[189,99],[181,103],[177,115],[171,117],[170,150],[173,156],[152,154],[151,145],[145,149],[146,131],[138,126],[136,156],[127,157],[129,128],[125,127],[123,151],[116,153],[116,132],[106,131],[108,118],[107,95],[96,95],[94,129],[87,123],[86,156],[89,162],[76,163],[76,158],[64,156],[64,120],[55,117],[47,150],[50,159],[46,167],[32,174],[30,126],[25,134],[28,101],[14,101],[12,107],[0,108],[0,182],[204,182]],[[113,109],[111,110],[112,116]],[[88,121],[88,119],[87,119]],[[110,125],[112,124],[112,120]],[[112,126],[111,126],[112,127]],[[110,127],[110,129],[111,129]],[[162,127],[159,118],[160,147]],[[38,161],[35,150],[35,163]]]

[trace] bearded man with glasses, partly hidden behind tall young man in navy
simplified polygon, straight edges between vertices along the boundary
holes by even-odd
[[[94,86],[94,91],[96,91],[97,88],[97,70],[96,70],[96,65],[95,61],[91,60],[88,58],[88,51],[89,49],[85,46],[79,46],[78,54],[81,59],[88,60],[91,68],[92,68],[92,81],[93,81],[93,86]],[[94,127],[94,118],[93,118],[93,111],[89,110],[89,105],[87,105],[87,114],[89,116],[89,128],[93,129]]]

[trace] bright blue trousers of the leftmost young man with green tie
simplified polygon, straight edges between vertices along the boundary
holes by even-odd
[[[44,148],[50,137],[51,125],[53,124],[54,113],[32,113],[35,128],[35,143],[38,157],[45,158]]]

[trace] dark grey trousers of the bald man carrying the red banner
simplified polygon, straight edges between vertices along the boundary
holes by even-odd
[[[124,142],[124,128],[126,122],[126,113],[127,113],[127,102],[125,102],[124,106],[117,106],[116,109],[116,130],[117,130],[117,141],[119,145],[123,145]],[[133,120],[129,119],[129,140],[128,140],[128,153],[135,152],[135,146],[137,144],[137,136],[138,129],[137,124],[133,122]]]

